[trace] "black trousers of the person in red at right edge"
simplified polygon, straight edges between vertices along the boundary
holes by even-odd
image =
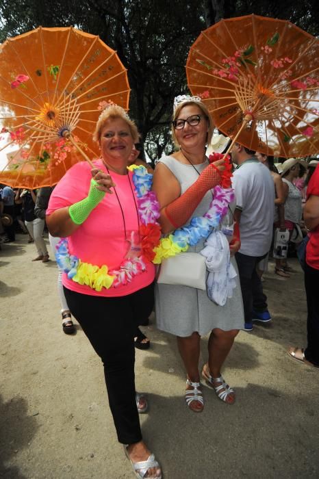
[[[307,348],[305,359],[319,366],[319,270],[305,264],[305,290],[307,295]]]

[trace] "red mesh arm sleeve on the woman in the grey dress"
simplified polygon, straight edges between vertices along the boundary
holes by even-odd
[[[217,168],[209,164],[185,193],[164,208],[164,214],[175,229],[188,222],[205,193],[218,185],[220,181],[221,176]]]

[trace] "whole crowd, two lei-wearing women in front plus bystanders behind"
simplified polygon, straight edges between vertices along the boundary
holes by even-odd
[[[135,348],[150,346],[140,326],[155,308],[157,328],[177,337],[190,411],[204,408],[201,376],[219,400],[233,404],[235,391],[222,366],[240,330],[251,332],[255,321],[272,320],[262,274],[277,229],[290,239],[297,226],[303,232],[307,347],[290,347],[288,354],[319,367],[318,161],[302,174],[298,159],[283,161],[277,170],[273,157],[234,142],[230,162],[222,153],[231,140],[218,135],[216,141],[213,131],[199,97],[177,96],[172,116],[177,148],[153,170],[139,159],[135,122],[110,104],[94,131],[101,153],[94,168],[85,161],[75,164],[58,185],[38,192],[1,190],[3,214],[14,218],[14,205],[22,205],[16,217],[36,246],[32,261],[49,261],[42,237],[47,223],[59,268],[63,331],[75,332],[75,318],[101,357],[118,441],[139,478],[162,477],[138,416],[148,402],[136,392]],[[166,253],[173,251],[157,272],[141,233],[150,224],[152,231],[160,225]],[[4,241],[14,242],[14,228],[12,222],[0,231]],[[175,256],[185,261],[181,274],[172,263]],[[165,276],[170,263],[175,279]],[[201,272],[196,281],[195,271]],[[289,281],[286,257],[275,259],[275,274]],[[200,369],[204,335],[209,335],[208,351]]]

